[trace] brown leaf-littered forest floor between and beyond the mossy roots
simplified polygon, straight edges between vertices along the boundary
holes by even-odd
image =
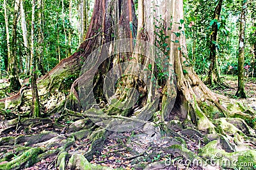
[[[228,98],[236,98],[237,77],[227,75],[222,79],[230,88],[212,90]],[[248,96],[246,102],[256,109],[256,79],[246,79],[245,82]],[[6,79],[0,79],[0,98],[6,98],[14,94],[14,92],[8,91],[6,87],[8,87]],[[241,100],[239,98],[236,99]],[[2,120],[3,117],[1,115],[0,117],[0,120]],[[81,118],[72,119],[67,116],[56,125],[54,116],[52,116],[51,118],[44,118],[44,120],[35,118],[34,120],[20,121],[19,126],[15,123],[9,127],[1,124],[0,121],[0,167],[1,164],[6,163],[6,160],[2,159],[6,155],[10,155],[10,160],[14,160],[22,154],[20,150],[26,151],[29,148],[40,146],[46,148],[47,153],[52,151],[53,154],[49,155],[49,157],[41,157],[36,164],[31,167],[23,167],[23,169],[60,169],[56,166],[59,154],[55,154],[55,151],[58,151],[63,146],[64,141],[70,139],[71,133],[69,129],[71,129],[72,125],[81,121]],[[33,122],[33,124],[29,124],[29,122]],[[168,166],[163,164],[166,160],[182,160],[181,157],[179,158],[182,154],[172,155],[169,147],[173,144],[186,145],[186,148],[196,155],[200,147],[205,144],[205,135],[193,129],[182,129],[176,123],[170,123],[168,126],[172,129],[171,134],[163,134],[161,125],[152,125],[150,123],[132,132],[110,132],[104,140],[102,150],[95,151],[89,161],[91,164],[123,169],[143,169],[145,167],[147,169],[187,169],[188,166],[182,164],[182,162]],[[84,131],[82,130],[81,132]],[[45,139],[38,141],[38,136],[42,134],[45,134]],[[13,138],[8,142],[4,141],[3,137]],[[72,144],[68,146],[67,153],[71,155],[74,153],[81,153],[82,155],[87,153],[92,145],[89,138],[85,136],[76,139],[75,137]],[[51,139],[56,139],[56,142],[47,144]],[[20,149],[20,147],[22,148]],[[188,169],[200,168],[190,166]]]

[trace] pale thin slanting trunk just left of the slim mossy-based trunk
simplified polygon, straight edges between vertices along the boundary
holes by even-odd
[[[20,24],[21,24],[21,29],[22,29],[22,36],[23,36],[23,41],[24,41],[24,47],[26,48],[26,75],[29,75],[30,72],[30,66],[28,61],[30,61],[30,49],[29,49],[29,42],[28,42],[28,29],[27,29],[27,24],[26,24],[26,15],[24,11],[24,6],[23,6],[23,1],[20,1]]]

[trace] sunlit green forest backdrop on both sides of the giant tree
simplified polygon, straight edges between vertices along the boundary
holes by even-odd
[[[4,0],[2,0],[1,3],[1,40],[6,40],[3,2]],[[6,2],[8,2],[6,4],[6,10],[8,12],[8,32],[10,38],[12,38],[14,2]],[[67,58],[72,52],[77,50],[79,43],[83,41],[81,37],[85,37],[84,32],[86,31],[82,32],[81,30],[83,30],[83,27],[88,27],[90,16],[92,15],[93,3],[92,1],[86,1],[84,6],[83,1],[63,0],[54,1],[54,3],[52,3],[52,1],[36,2],[36,17],[38,17],[38,22],[36,22],[35,25],[38,29],[36,29],[35,47],[38,49],[36,50],[37,52],[42,51],[38,52],[38,54],[44,54],[43,56],[36,55],[40,60],[40,65],[44,66],[44,68],[38,69],[41,70],[40,73],[44,73],[44,70],[49,72],[49,70],[60,62],[60,59]],[[220,66],[219,72],[221,74],[231,73],[228,68],[232,66],[232,73],[237,74],[238,22],[239,14],[241,13],[241,2],[223,1],[221,15],[218,21],[214,19],[214,8],[212,8],[212,6],[217,6],[218,1],[216,1],[216,3],[213,1],[184,1],[184,4],[185,19],[188,23],[186,29],[188,56],[193,65],[195,65],[196,73],[199,75],[207,75],[209,72],[211,27],[215,24],[218,25],[219,29],[218,42],[216,42],[216,52],[218,56],[220,56],[218,58],[218,65]],[[29,63],[26,62],[28,61],[28,56],[26,56],[26,54],[30,53],[29,43],[31,38],[29,37],[31,33],[28,30],[31,30],[31,2],[23,0],[22,7],[23,8],[20,8],[19,22],[17,23],[17,48],[19,50],[17,52],[17,59],[19,61],[19,74],[24,77],[26,74],[23,74],[23,71],[27,72],[27,75],[29,75]],[[252,3],[248,4],[247,17],[248,20],[252,20],[252,22],[246,23],[247,43],[244,62],[245,65],[251,66],[250,70],[254,69],[252,46],[255,38],[252,35],[255,33],[255,26],[253,26],[253,24],[255,24],[255,10],[253,9],[255,9],[255,4],[252,1]],[[23,12],[21,12],[21,10]],[[24,15],[22,15],[22,13],[24,13]],[[24,19],[24,17],[26,17],[26,19]],[[42,23],[40,20],[42,20]],[[193,21],[195,25],[189,27],[189,22],[191,21]],[[24,24],[25,22],[26,25]],[[26,29],[24,29],[24,27]],[[40,36],[43,36],[44,40],[42,40]],[[4,72],[4,70],[8,70],[8,48],[6,41],[1,41],[1,44],[1,71]],[[70,52],[70,50],[72,50],[72,52]],[[198,65],[196,61],[203,61],[204,65]],[[42,67],[40,65],[39,67]],[[40,77],[40,75],[38,76]]]

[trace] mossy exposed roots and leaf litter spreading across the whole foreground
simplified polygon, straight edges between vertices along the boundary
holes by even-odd
[[[63,114],[58,123],[49,118],[24,118],[18,130],[23,135],[12,128],[17,119],[3,121],[0,169],[218,169],[220,164],[212,166],[207,160],[217,153],[230,161],[255,160],[255,131],[239,118],[216,119],[214,125],[223,132],[208,135],[185,121],[145,123],[132,132],[109,132],[88,118],[74,117],[70,122],[67,118]],[[239,164],[227,167],[238,168]]]

